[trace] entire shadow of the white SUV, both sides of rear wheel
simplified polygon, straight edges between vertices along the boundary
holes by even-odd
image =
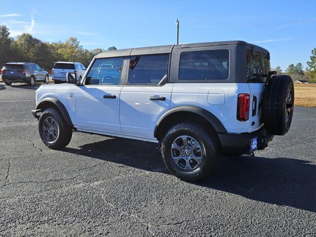
[[[64,152],[169,174],[155,144],[123,138],[85,144]],[[316,212],[316,165],[293,158],[240,156],[223,158],[214,174],[197,186],[252,200]]]

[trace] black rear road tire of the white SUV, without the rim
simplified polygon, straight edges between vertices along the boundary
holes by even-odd
[[[183,135],[194,138],[201,147],[202,161],[193,171],[185,171],[180,168],[171,155],[172,143]],[[220,153],[218,144],[218,138],[213,134],[208,134],[203,127],[196,123],[183,122],[174,125],[167,131],[162,140],[161,154],[164,164],[173,175],[181,180],[196,182],[205,179],[212,173]]]

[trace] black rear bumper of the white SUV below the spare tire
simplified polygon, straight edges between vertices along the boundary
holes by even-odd
[[[219,134],[222,145],[222,152],[226,155],[239,156],[242,154],[250,154],[254,150],[263,150],[272,141],[274,135],[268,134],[265,128],[252,133],[224,133]],[[257,138],[257,148],[251,148],[251,142]]]

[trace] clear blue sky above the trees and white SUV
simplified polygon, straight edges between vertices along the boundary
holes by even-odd
[[[42,41],[77,37],[87,49],[245,40],[267,48],[283,71],[316,47],[316,0],[102,1],[0,0],[0,24],[11,36]]]

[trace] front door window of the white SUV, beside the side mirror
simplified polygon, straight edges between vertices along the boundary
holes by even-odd
[[[86,77],[86,85],[119,85],[124,58],[96,59]]]

